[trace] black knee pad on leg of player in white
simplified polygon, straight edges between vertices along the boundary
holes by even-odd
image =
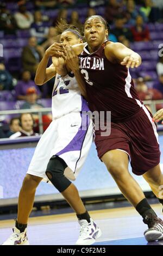
[[[66,190],[71,181],[64,175],[67,164],[59,156],[52,156],[46,168],[46,175],[59,192]]]

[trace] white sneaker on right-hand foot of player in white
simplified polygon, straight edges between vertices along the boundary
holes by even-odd
[[[101,229],[97,227],[97,224],[91,218],[90,223],[86,220],[80,220],[79,224],[81,227],[76,245],[92,245],[102,235]]]

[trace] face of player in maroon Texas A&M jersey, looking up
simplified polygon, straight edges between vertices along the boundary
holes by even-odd
[[[108,30],[99,17],[90,17],[84,26],[84,36],[91,51],[97,50],[108,36]]]

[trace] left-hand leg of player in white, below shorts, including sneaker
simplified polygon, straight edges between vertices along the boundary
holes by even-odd
[[[27,222],[34,204],[36,187],[42,178],[26,174],[18,197],[18,215],[13,233],[3,245],[29,245],[27,238]]]

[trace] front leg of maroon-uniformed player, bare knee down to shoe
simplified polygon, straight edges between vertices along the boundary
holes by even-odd
[[[148,204],[139,184],[134,180],[128,171],[128,156],[120,150],[110,150],[102,156],[110,174],[116,181],[123,195],[134,205],[135,209],[143,218],[143,222],[148,225],[145,231],[147,241],[163,239],[163,222],[158,218]]]

